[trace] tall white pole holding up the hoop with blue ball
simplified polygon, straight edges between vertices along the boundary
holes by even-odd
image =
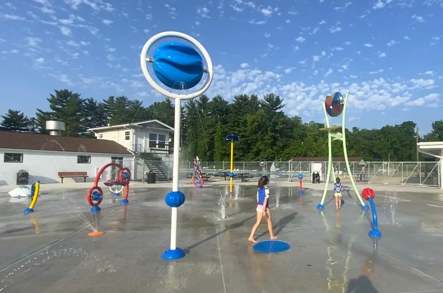
[[[172,191],[178,191],[180,170],[180,129],[181,129],[181,104],[180,99],[175,99],[174,114],[174,161],[172,163]],[[177,210],[172,208],[171,214],[171,250],[177,248]]]

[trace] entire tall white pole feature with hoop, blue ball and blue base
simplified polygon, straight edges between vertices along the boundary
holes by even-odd
[[[180,42],[167,42],[159,45],[153,58],[147,57],[147,53],[155,43],[165,38],[178,38],[188,41],[194,47]],[[201,55],[200,55],[201,53]],[[203,58],[202,58],[203,57]],[[204,67],[203,59],[206,61]],[[153,71],[158,80],[168,89],[160,86],[147,70],[147,63],[153,64]],[[213,78],[212,61],[206,49],[194,38],[178,32],[164,32],[147,40],[140,55],[141,71],[147,82],[158,92],[175,100],[174,113],[174,161],[172,168],[172,190],[166,194],[165,202],[171,207],[171,246],[166,250],[163,259],[174,260],[185,256],[185,251],[177,245],[177,209],[185,203],[185,194],[178,190],[180,171],[180,129],[181,129],[181,101],[191,100],[202,95],[210,86]],[[203,78],[206,73],[206,81],[202,87],[194,93],[187,93]],[[171,89],[181,90],[185,94],[171,92]],[[202,183],[202,181],[201,181]]]

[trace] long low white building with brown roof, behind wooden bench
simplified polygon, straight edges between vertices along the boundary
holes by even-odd
[[[20,170],[29,173],[29,183],[59,183],[58,172],[87,172],[86,181],[93,181],[110,162],[128,166],[134,180],[140,173],[136,164],[130,166],[133,152],[114,141],[95,138],[0,131],[0,156],[0,185],[16,185]],[[101,179],[114,179],[114,170],[108,168]],[[63,183],[72,181],[84,178],[64,178]]]

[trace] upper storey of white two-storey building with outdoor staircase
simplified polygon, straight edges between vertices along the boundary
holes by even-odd
[[[169,154],[174,128],[159,120],[90,129],[98,139],[113,140],[135,153]],[[171,148],[172,152],[172,148]]]

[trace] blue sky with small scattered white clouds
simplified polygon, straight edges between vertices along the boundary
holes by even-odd
[[[441,119],[442,14],[443,0],[2,0],[0,112],[33,117],[62,88],[161,101],[141,48],[179,31],[211,57],[209,97],[273,92],[289,116],[325,122],[325,96],[349,90],[346,127],[412,120],[424,134]]]

